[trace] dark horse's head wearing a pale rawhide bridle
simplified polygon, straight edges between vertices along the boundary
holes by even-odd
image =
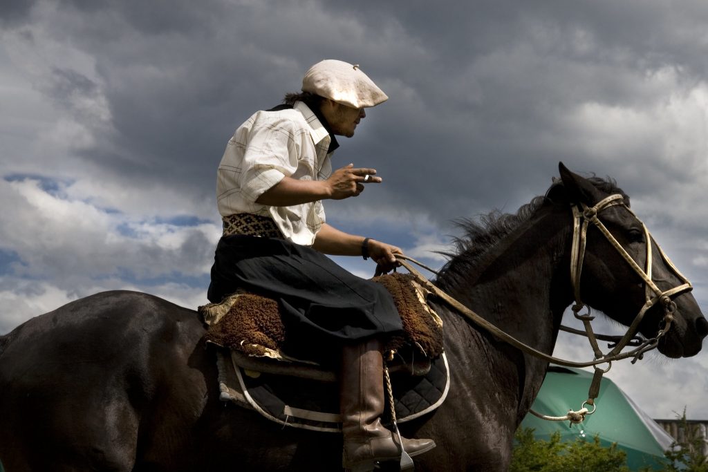
[[[571,251],[576,304],[603,311],[646,338],[662,333],[663,355],[697,354],[708,321],[690,294],[690,282],[629,209],[629,197],[571,173],[562,163],[559,167],[564,193],[576,208]]]

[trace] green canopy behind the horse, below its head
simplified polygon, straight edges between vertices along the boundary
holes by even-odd
[[[549,372],[532,409],[541,415],[563,416],[568,410],[579,410],[588,398],[592,372],[565,367],[549,367]],[[535,430],[536,439],[549,439],[554,432],[561,440],[572,442],[577,438],[593,441],[597,435],[603,446],[617,443],[627,453],[627,466],[636,471],[649,466],[657,470],[663,453],[670,448],[673,438],[607,377],[600,385],[600,395],[595,399],[597,409],[586,415],[579,425],[569,427],[569,422],[547,421],[529,413],[521,422],[522,427]],[[592,410],[592,407],[587,406]]]

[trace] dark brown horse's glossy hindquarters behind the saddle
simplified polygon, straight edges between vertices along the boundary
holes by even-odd
[[[179,408],[165,390],[192,386],[180,398],[198,415],[205,379],[188,364],[203,332],[195,311],[126,291],[79,299],[18,326],[0,344],[4,465],[132,470],[136,455],[151,450],[147,442],[137,451],[141,427],[157,434],[145,425],[163,408]],[[32,444],[43,454],[28,450]]]

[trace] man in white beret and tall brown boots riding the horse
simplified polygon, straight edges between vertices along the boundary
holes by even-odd
[[[322,200],[356,197],[380,183],[373,168],[353,164],[332,172],[335,136],[352,137],[365,108],[387,100],[358,65],[314,64],[302,93],[258,111],[236,129],[217,171],[224,232],[208,297],[221,301],[247,289],[279,301],[296,349],[341,352],[343,466],[369,471],[401,456],[398,435],[382,425],[385,340],[400,334],[389,292],[352,275],[324,254],[361,255],[377,271],[396,266],[401,249],[347,234],[325,222]],[[409,456],[435,447],[431,439],[401,439]]]

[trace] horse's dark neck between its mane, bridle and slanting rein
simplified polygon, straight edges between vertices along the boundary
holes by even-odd
[[[566,209],[539,209],[489,248],[466,274],[448,271],[438,283],[498,328],[550,353],[564,309],[572,301],[566,262],[569,224]],[[462,318],[453,317],[457,318],[453,323]]]

